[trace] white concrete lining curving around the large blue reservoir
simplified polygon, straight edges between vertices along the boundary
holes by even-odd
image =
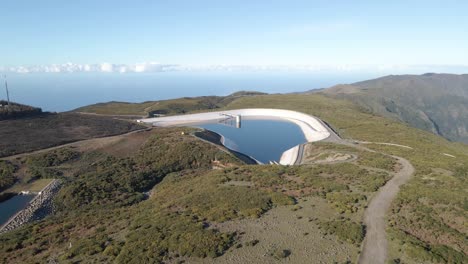
[[[283,110],[283,109],[268,109],[268,108],[248,108],[248,109],[236,109],[236,110],[225,110],[217,112],[207,112],[199,114],[188,114],[188,115],[177,115],[177,116],[165,116],[165,117],[154,117],[140,119],[138,122],[144,122],[153,124],[154,126],[181,126],[190,125],[194,123],[216,121],[225,119],[227,116],[236,116],[236,120],[241,120],[241,117],[249,118],[279,118],[288,120],[298,125],[307,142],[315,142],[328,138],[331,134],[329,128],[323,125],[323,123],[316,117],[310,116],[304,113]],[[300,147],[293,147],[283,153],[280,159],[282,165],[293,165],[295,164],[299,156]]]

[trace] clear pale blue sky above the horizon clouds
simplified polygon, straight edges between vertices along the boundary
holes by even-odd
[[[5,0],[0,8],[0,66],[468,64],[468,1]]]

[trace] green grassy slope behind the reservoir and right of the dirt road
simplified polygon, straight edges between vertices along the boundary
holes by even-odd
[[[402,250],[406,253],[404,258],[413,261],[444,262],[449,261],[447,256],[456,256],[453,250],[457,250],[464,252],[466,258],[467,145],[451,143],[429,132],[366,113],[347,101],[320,95],[257,96],[236,100],[228,107],[297,110],[322,118],[346,138],[411,146],[412,150],[367,145],[404,157],[417,170],[393,205],[389,228],[392,239],[398,243],[394,243],[395,252],[391,257],[397,258]]]

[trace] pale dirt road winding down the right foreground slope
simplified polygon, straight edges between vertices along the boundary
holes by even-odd
[[[366,238],[359,256],[360,264],[385,263],[387,258],[387,237],[385,232],[385,215],[390,204],[395,199],[400,186],[406,183],[414,173],[411,163],[401,157],[395,157],[402,168],[388,181],[372,198],[366,212],[364,213],[364,224],[367,227]]]

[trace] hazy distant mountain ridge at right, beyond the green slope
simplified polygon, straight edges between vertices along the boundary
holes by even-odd
[[[318,92],[468,143],[468,74],[390,75]]]

